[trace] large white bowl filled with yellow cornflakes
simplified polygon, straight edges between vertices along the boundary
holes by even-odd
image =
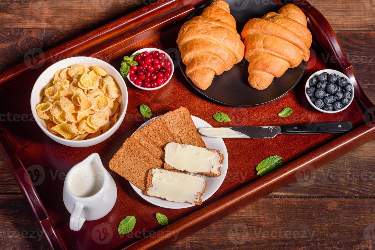
[[[127,89],[105,61],[71,57],[49,66],[31,91],[31,110],[40,129],[71,147],[89,147],[110,137],[124,120]]]

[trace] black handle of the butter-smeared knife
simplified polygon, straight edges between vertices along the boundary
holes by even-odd
[[[351,122],[326,122],[281,126],[282,134],[338,134],[351,131]]]

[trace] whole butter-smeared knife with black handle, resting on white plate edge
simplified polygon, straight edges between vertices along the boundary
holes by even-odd
[[[199,128],[202,135],[214,138],[273,138],[278,134],[338,134],[353,129],[351,122],[326,122],[283,126],[242,126]]]

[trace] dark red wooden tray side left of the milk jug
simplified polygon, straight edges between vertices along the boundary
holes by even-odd
[[[40,201],[40,197],[26,171],[26,168],[22,164],[20,158],[18,158],[17,153],[15,152],[1,125],[0,148],[3,151],[6,162],[9,165],[14,178],[17,181],[18,187],[20,187],[24,198],[35,215],[49,246],[51,249],[64,249],[63,244],[58,238],[52,222],[49,219],[42,202]]]

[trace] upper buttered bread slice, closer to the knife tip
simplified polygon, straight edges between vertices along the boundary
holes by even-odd
[[[164,168],[220,176],[224,156],[219,150],[193,145],[168,143],[165,145]],[[170,167],[169,167],[170,166]]]

